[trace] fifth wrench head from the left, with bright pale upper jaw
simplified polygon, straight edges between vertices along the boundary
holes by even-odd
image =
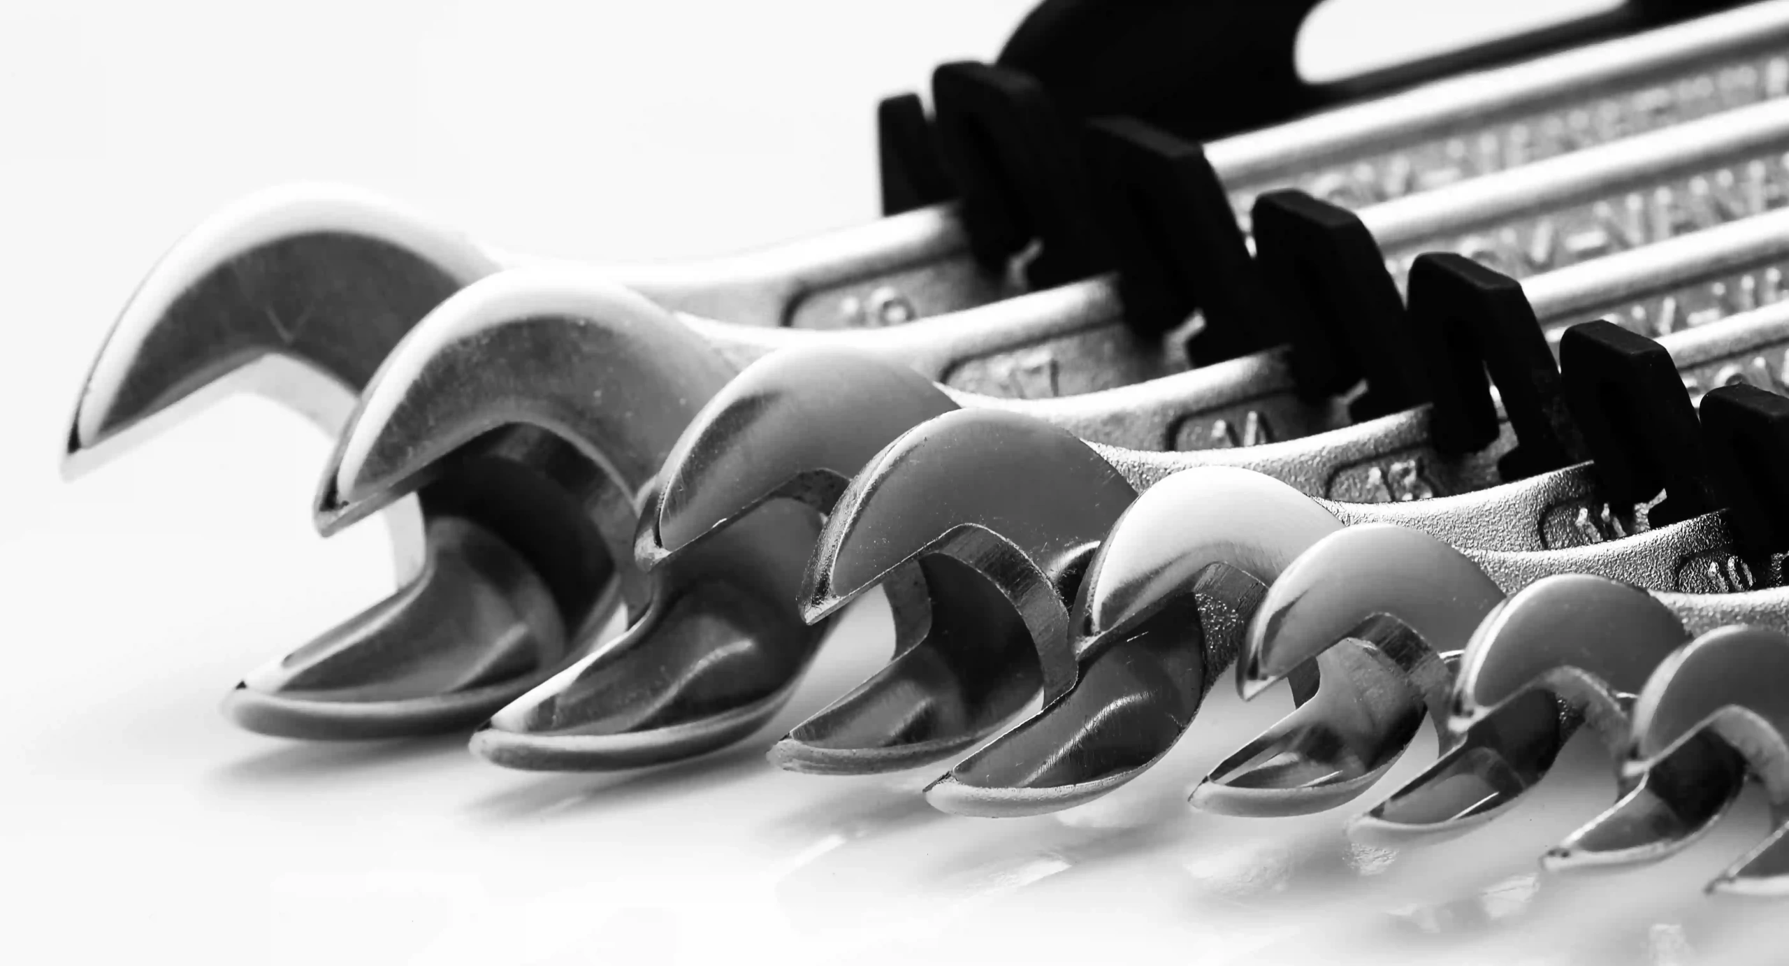
[[[1136,778],[1191,724],[1263,585],[1342,524],[1252,470],[1195,467],[1145,490],[1088,565],[1073,612],[1079,678],[927,789],[937,809],[1016,816]]]

